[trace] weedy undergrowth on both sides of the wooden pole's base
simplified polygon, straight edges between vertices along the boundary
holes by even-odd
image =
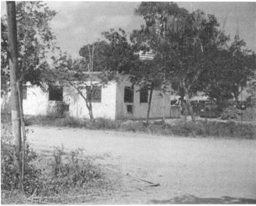
[[[2,125],[1,125],[2,126]],[[15,170],[13,167],[13,143],[8,127],[1,128],[1,190],[15,193]],[[38,155],[27,145],[25,149],[24,192],[26,196],[56,196],[70,190],[88,190],[101,181],[101,171],[83,150],[64,152],[56,147],[48,170],[36,167]],[[46,166],[46,165],[45,165]],[[44,166],[44,167],[45,167]]]

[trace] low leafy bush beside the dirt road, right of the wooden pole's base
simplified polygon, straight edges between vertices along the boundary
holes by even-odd
[[[101,171],[90,159],[84,158],[83,150],[71,151],[66,159],[65,155],[63,146],[55,147],[50,179],[46,182],[50,193],[58,194],[76,187],[87,188],[101,178]]]

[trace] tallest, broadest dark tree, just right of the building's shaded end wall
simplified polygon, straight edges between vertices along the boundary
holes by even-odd
[[[143,16],[146,27],[133,32],[133,42],[155,52],[157,68],[177,85],[182,98],[186,96],[186,108],[194,121],[189,98],[207,81],[208,59],[223,44],[217,41],[223,38],[217,19],[200,10],[189,13],[170,2],[143,2],[135,13]]]

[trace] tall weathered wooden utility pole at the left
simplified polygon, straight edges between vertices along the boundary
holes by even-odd
[[[15,1],[7,1],[7,24],[8,24],[8,51],[10,66],[10,87],[12,100],[12,131],[15,138],[15,150],[13,164],[15,167],[15,183],[22,188],[21,183],[21,112],[19,111],[19,97],[17,87],[18,75],[18,48],[17,48],[17,25]]]

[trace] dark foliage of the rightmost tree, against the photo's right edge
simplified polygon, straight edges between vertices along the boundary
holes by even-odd
[[[238,95],[256,71],[255,54],[246,49],[243,39],[235,36],[231,45],[215,51],[209,60],[209,69],[204,73],[207,82],[202,82],[204,93],[217,103],[229,98],[238,101]]]

